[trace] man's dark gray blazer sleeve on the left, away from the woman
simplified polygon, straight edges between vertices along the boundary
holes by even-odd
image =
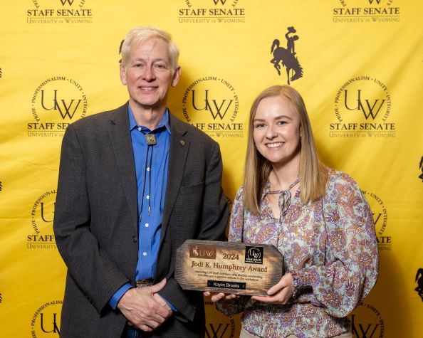
[[[56,243],[73,278],[98,312],[128,279],[99,245],[91,229],[87,164],[76,128],[63,137],[54,217]],[[106,226],[106,225],[104,225]]]

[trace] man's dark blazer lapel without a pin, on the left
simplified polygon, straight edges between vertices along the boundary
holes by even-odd
[[[129,130],[129,119],[127,116],[127,103],[117,108],[113,117],[110,118],[108,132],[113,153],[115,154],[117,168],[122,179],[130,216],[135,229],[137,229],[137,179]]]

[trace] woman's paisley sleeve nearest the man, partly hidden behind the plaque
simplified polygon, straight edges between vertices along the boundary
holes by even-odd
[[[243,204],[244,191],[239,188],[236,193],[234,204],[231,210],[231,221],[229,224],[229,242],[242,242],[244,232],[244,204]],[[219,300],[216,302],[216,309],[224,313],[224,315],[232,316],[244,310],[250,297],[240,296],[234,300]]]

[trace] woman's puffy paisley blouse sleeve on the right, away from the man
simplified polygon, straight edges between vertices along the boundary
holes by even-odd
[[[347,174],[331,175],[323,197],[328,263],[293,272],[295,292],[312,287],[334,317],[345,317],[377,280],[378,253],[372,211]]]

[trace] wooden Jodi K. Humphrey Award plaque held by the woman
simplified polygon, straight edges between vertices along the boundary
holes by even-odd
[[[184,290],[266,295],[282,275],[273,245],[187,240],[177,249],[174,276]]]

